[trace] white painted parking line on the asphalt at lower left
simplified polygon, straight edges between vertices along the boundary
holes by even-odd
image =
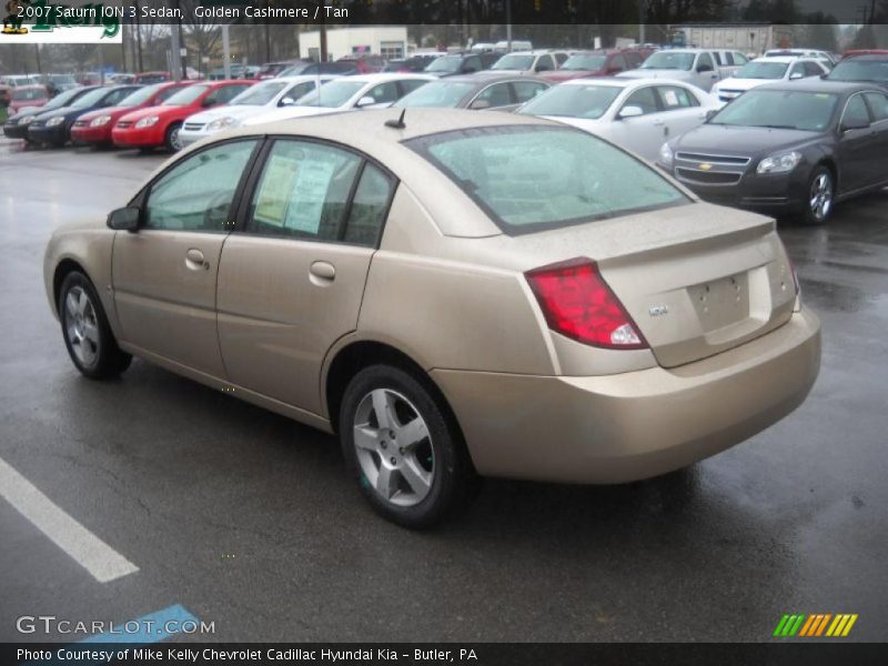
[[[132,562],[53,504],[3,458],[0,458],[0,496],[99,583],[108,583],[139,571]]]

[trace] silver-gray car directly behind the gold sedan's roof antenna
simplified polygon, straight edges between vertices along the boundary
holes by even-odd
[[[447,77],[426,83],[393,105],[513,111],[549,85],[543,79],[515,74]]]

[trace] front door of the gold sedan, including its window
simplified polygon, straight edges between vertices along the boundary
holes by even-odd
[[[150,185],[137,233],[114,238],[112,281],[123,340],[224,377],[215,291],[230,211],[255,140],[192,153]]]

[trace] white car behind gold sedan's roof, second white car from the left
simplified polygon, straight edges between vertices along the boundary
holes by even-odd
[[[254,125],[353,109],[382,109],[391,107],[428,81],[437,81],[437,77],[397,72],[343,77],[301,97],[291,105],[249,118],[243,124]]]

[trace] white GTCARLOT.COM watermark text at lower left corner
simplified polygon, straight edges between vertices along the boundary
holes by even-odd
[[[64,619],[56,615],[22,615],[16,619],[16,629],[20,634],[65,634],[92,636],[103,634],[111,639],[113,636],[132,636],[138,634],[215,634],[215,622],[201,619],[130,619],[123,623],[113,623],[108,619]]]

